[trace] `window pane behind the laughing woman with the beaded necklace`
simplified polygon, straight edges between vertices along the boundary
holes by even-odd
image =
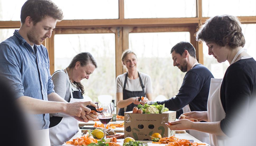
[[[115,97],[115,34],[56,34],[54,47],[55,71],[68,67],[78,53],[90,52],[98,68],[82,80],[84,95],[94,102],[99,95]]]

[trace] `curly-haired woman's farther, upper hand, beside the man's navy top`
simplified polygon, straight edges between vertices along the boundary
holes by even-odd
[[[198,119],[198,121],[208,121],[208,116],[207,116],[207,111],[203,111],[203,112],[187,112],[187,113],[183,113],[182,115],[185,115],[186,119],[190,119],[190,118],[195,118]],[[182,119],[182,117],[178,118],[179,120]]]

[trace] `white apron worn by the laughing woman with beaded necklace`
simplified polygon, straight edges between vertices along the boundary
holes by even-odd
[[[67,70],[66,74],[68,76]],[[58,72],[58,71],[56,71]],[[55,72],[55,73],[56,73]],[[63,71],[62,71],[63,72]],[[83,102],[84,99],[73,98],[72,86],[69,81],[70,87],[70,102]],[[62,145],[64,142],[71,139],[79,131],[78,121],[73,117],[63,117],[59,124],[49,128],[50,142],[51,145]]]

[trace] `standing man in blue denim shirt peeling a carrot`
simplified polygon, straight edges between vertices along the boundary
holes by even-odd
[[[33,113],[40,145],[49,145],[49,113],[62,112],[84,122],[97,118],[86,107],[96,107],[95,103],[67,103],[53,90],[49,56],[42,42],[51,37],[61,19],[63,13],[53,2],[28,0],[21,8],[20,29],[0,44],[1,79],[11,85],[21,106]]]

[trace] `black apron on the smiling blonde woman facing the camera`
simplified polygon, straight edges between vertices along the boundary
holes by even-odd
[[[127,77],[128,77],[128,72],[127,72],[127,74],[125,76],[124,87],[123,87],[123,100],[126,100],[126,99],[128,99],[130,97],[140,97],[140,96],[144,96],[145,97],[145,91],[144,91],[145,87],[144,87],[144,85],[142,83],[142,80],[141,80],[139,72],[138,72],[138,75],[139,75],[139,78],[140,78],[140,85],[141,85],[142,91],[129,91],[129,90],[125,90],[125,86],[126,86],[126,82],[127,82]],[[124,116],[124,112],[132,111],[133,107],[135,107],[135,106],[138,106],[138,105],[135,105],[134,103],[131,103],[130,105],[127,106],[126,111],[124,111],[124,108],[120,108],[119,112],[118,112],[118,115]]]

